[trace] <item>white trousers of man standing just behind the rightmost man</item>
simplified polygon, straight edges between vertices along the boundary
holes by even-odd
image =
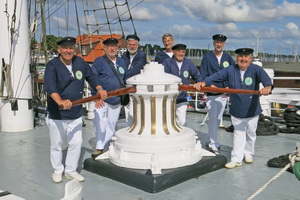
[[[207,96],[206,105],[208,108],[209,120],[208,120],[208,137],[210,148],[220,147],[218,142],[218,129],[220,120],[223,117],[224,109],[226,106],[228,97],[225,95]]]

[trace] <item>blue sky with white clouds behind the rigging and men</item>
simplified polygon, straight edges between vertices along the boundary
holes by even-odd
[[[125,3],[125,0],[115,1],[118,5]],[[77,15],[74,2],[77,2]],[[114,5],[113,0],[104,2],[106,8]],[[188,48],[212,49],[212,35],[224,34],[228,37],[225,50],[249,47],[255,52],[300,54],[298,0],[128,0],[128,4],[118,6],[123,20],[129,18],[127,5],[133,23],[123,22],[122,29],[128,35],[134,33],[135,27],[141,45],[163,46],[161,36],[171,33],[175,43],[184,43]],[[33,5],[31,7],[33,10]],[[106,16],[112,22],[111,31],[122,34],[120,24],[113,24],[116,9],[105,13],[101,8],[103,1],[100,0],[47,0],[47,34],[76,36],[97,29],[100,34],[108,34],[108,26],[86,25],[105,23]],[[41,25],[37,35],[39,29]]]

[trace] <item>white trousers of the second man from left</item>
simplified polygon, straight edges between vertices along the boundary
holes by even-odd
[[[96,149],[106,149],[115,133],[116,123],[119,119],[121,106],[105,103],[102,108],[95,108],[93,119],[96,133]]]

